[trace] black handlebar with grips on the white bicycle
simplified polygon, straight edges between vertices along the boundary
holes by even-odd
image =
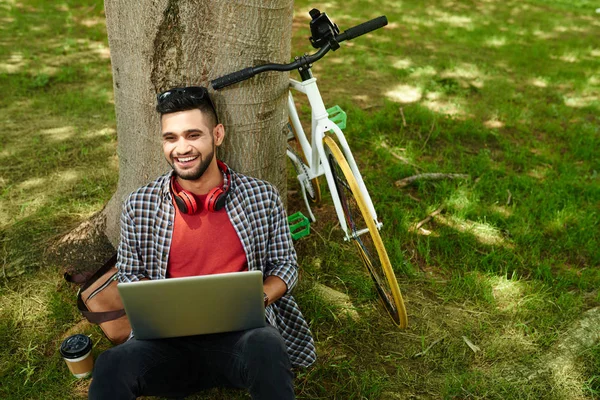
[[[245,81],[246,79],[250,79],[254,75],[260,74],[262,72],[291,71],[293,69],[298,69],[298,68],[302,68],[302,67],[310,68],[310,65],[312,63],[323,58],[323,56],[325,54],[327,54],[327,52],[329,50],[331,50],[332,42],[337,44],[337,43],[341,43],[345,40],[351,40],[351,39],[357,38],[359,36],[364,35],[365,33],[369,33],[376,29],[382,28],[382,27],[386,26],[387,23],[388,23],[387,18],[385,17],[385,15],[382,15],[380,17],[374,18],[372,20],[363,22],[362,24],[359,24],[357,26],[347,29],[343,33],[335,36],[331,40],[331,42],[326,43],[323,47],[321,47],[319,49],[319,51],[317,51],[314,54],[304,55],[302,57],[296,57],[296,60],[289,64],[264,64],[264,65],[259,65],[257,67],[247,67],[242,70],[232,72],[232,73],[224,75],[220,78],[214,79],[210,82],[210,84],[213,87],[213,89],[219,90],[224,87],[233,85],[235,83]]]

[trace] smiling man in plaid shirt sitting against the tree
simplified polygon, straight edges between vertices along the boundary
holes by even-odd
[[[163,152],[172,171],[133,192],[121,215],[119,280],[263,272],[264,328],[136,340],[102,353],[90,399],[186,396],[216,386],[253,399],[293,399],[292,366],[316,358],[293,297],[296,253],[277,190],[215,157],[225,129],[203,87],[158,96]]]

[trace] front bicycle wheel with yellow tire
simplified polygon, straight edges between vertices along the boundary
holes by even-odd
[[[346,157],[329,136],[323,139],[323,147],[335,180],[338,198],[342,203],[348,229],[353,233],[353,242],[365,264],[386,311],[394,324],[400,328],[408,326],[408,316],[404,300],[398,287],[396,275],[387,251],[371,218],[358,182],[346,161]],[[368,229],[369,234],[356,235],[357,231]]]

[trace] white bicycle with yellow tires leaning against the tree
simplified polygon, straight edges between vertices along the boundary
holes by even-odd
[[[329,110],[325,108],[311,69],[312,64],[323,58],[329,50],[337,50],[341,42],[387,25],[387,18],[381,16],[372,19],[340,34],[339,28],[327,14],[317,9],[312,9],[309,14],[312,18],[310,42],[318,49],[317,52],[295,57],[289,64],[264,64],[244,68],[211,81],[211,86],[220,90],[267,71],[297,70],[300,73],[301,81],[290,79],[287,108],[291,129],[286,154],[298,172],[297,179],[310,218],[315,221],[308,199],[320,200],[318,177],[325,175],[344,239],[352,240],[358,248],[392,321],[400,328],[406,328],[408,317],[404,300],[379,233],[383,224],[377,219],[371,197],[342,132],[345,128],[345,114],[335,107]],[[310,141],[300,123],[292,91],[305,94],[308,98],[312,110]],[[329,135],[330,132],[333,135]],[[289,145],[289,140],[296,140],[300,155]]]

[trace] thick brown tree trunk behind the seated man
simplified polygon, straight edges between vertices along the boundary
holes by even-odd
[[[105,209],[67,241],[89,241],[101,231],[104,242],[108,238],[116,247],[125,197],[169,168],[156,94],[176,86],[209,86],[210,80],[247,66],[288,62],[293,0],[105,0],[105,10],[119,184]],[[287,79],[285,73],[268,73],[211,90],[226,130],[220,158],[237,171],[270,181],[284,198]]]

